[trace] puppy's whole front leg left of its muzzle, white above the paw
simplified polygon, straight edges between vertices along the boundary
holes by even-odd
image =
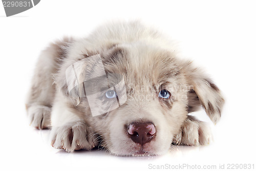
[[[78,149],[90,150],[98,145],[98,135],[93,131],[83,115],[70,109],[61,92],[56,93],[52,109],[51,144],[54,148],[73,152]]]

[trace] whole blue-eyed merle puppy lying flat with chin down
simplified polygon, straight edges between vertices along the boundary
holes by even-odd
[[[31,125],[51,130],[52,146],[96,146],[119,156],[161,155],[172,143],[205,145],[219,88],[172,41],[140,22],[112,23],[86,38],[63,38],[42,51],[26,102]]]

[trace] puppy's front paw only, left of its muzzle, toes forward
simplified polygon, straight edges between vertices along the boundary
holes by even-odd
[[[90,150],[98,145],[98,135],[83,121],[54,127],[51,131],[52,146],[73,152],[78,149]]]

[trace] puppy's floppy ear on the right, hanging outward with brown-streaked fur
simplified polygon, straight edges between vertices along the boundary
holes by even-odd
[[[188,112],[197,111],[202,105],[211,121],[217,123],[224,104],[220,89],[202,70],[193,67],[191,62],[183,63],[182,70],[192,88],[188,93]]]

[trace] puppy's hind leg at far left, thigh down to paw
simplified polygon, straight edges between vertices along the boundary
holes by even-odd
[[[30,125],[37,129],[50,127],[51,107],[55,96],[53,74],[57,71],[58,62],[63,57],[63,47],[69,39],[55,42],[42,51],[36,64],[31,88],[26,101]]]

